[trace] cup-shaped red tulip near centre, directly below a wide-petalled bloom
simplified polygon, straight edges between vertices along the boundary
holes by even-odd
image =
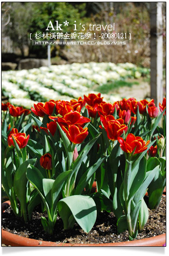
[[[66,132],[66,135],[74,144],[80,144],[88,135],[88,128],[83,129],[81,126],[70,125],[68,130],[66,127],[62,127],[62,130]]]

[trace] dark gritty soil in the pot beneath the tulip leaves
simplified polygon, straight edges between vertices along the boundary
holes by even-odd
[[[32,221],[24,223],[17,219],[11,211],[11,207],[6,208],[2,216],[2,228],[13,234],[38,240],[53,242],[71,242],[81,244],[101,244],[108,242],[129,241],[128,231],[117,234],[116,217],[114,213],[102,212],[97,218],[92,230],[87,234],[78,224],[73,230],[65,231],[60,217],[58,217],[53,235],[48,235],[43,230],[40,217],[45,213],[40,213],[40,209],[32,214]],[[137,239],[154,237],[155,235],[166,233],[166,197],[163,196],[157,210],[149,210],[149,220],[144,230],[138,234]]]

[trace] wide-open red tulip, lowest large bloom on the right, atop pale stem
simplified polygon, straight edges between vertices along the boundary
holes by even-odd
[[[129,133],[124,140],[121,137],[118,137],[118,142],[121,149],[126,153],[132,153],[135,150],[134,154],[141,153],[147,149],[147,145],[150,143],[150,140],[145,142],[141,137],[138,137],[132,133]]]

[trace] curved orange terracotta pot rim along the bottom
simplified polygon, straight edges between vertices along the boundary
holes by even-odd
[[[6,205],[10,205],[10,201],[5,201],[2,203],[2,211],[4,211],[4,207]],[[144,239],[139,239],[139,240],[134,240],[134,241],[124,241],[124,242],[112,242],[108,244],[64,244],[63,242],[57,243],[57,242],[49,242],[49,241],[41,241],[41,240],[36,240],[36,239],[31,239],[31,238],[25,238],[25,237],[20,237],[17,234],[12,234],[8,231],[2,230],[2,244],[5,245],[11,245],[11,246],[59,246],[59,247],[82,247],[82,246],[164,246],[166,242],[166,233],[165,234],[160,234],[157,235],[156,237],[150,237],[150,238],[144,238]]]

